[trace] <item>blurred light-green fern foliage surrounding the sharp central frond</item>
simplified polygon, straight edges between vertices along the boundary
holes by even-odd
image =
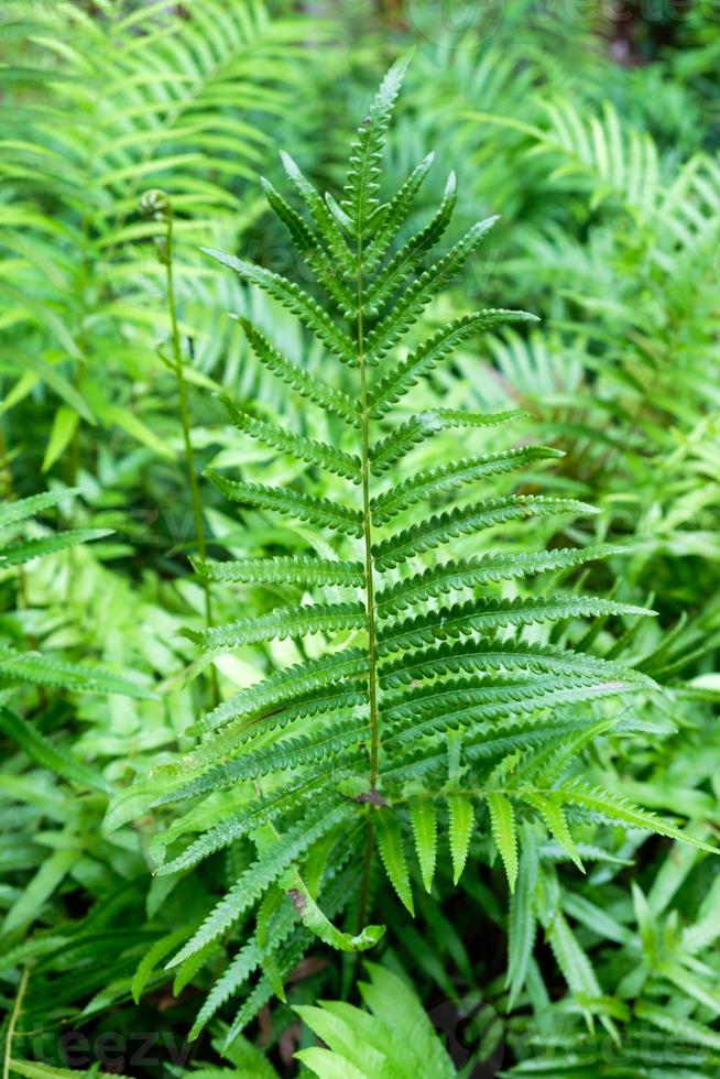
[[[277,149],[287,146],[313,182],[336,190],[359,110],[408,45],[416,52],[390,132],[388,190],[429,150],[436,166],[407,231],[430,216],[450,167],[459,179],[450,242],[501,215],[483,257],[427,307],[422,329],[480,306],[542,317],[463,346],[415,391],[414,410],[440,396],[451,408],[523,407],[537,440],[566,451],[543,486],[602,512],[589,523],[504,526],[492,549],[622,544],[623,558],[576,570],[572,582],[657,618],[574,623],[571,643],[635,667],[663,691],[633,699],[625,731],[587,746],[579,771],[717,843],[712,0],[10,0],[0,12],[0,488],[4,512],[46,491],[50,501],[0,537],[3,1079],[98,1065],[133,1077],[293,1076],[313,1067],[313,1054],[302,1066],[293,1057],[317,1045],[313,1031],[345,1059],[326,1073],[352,1076],[352,1039],[386,1037],[358,1006],[353,959],[320,944],[286,957],[287,1002],[263,999],[229,1045],[232,1002],[197,1040],[186,1038],[248,923],[201,962],[164,969],[252,847],[242,840],[190,874],[153,878],[151,844],[168,818],[132,800],[152,770],[197,744],[195,724],[214,694],[212,668],[182,635],[204,629],[204,595],[187,562],[196,534],[166,362],[164,226],[142,219],[138,201],[159,187],[175,208],[198,475],[211,466],[263,482],[272,464],[281,483],[302,477],[231,427],[216,403],[225,392],[269,421],[328,437],[226,313],[250,317],[309,371],[323,370],[321,349],[198,248],[306,284],[258,178],[277,181]],[[433,467],[446,453],[430,442],[416,460]],[[215,558],[312,545],[302,527],[259,510],[232,514],[210,483],[200,487]],[[330,483],[325,493],[335,492]],[[8,560],[6,538],[14,552],[47,549]],[[486,549],[462,537],[452,555]],[[261,614],[296,596],[284,585],[215,585],[215,617]],[[214,669],[225,698],[307,657],[303,645],[275,642],[219,656]],[[119,795],[123,821],[105,835],[109,798]],[[373,872],[373,902],[389,926],[373,961],[412,984],[461,1075],[490,1060],[509,1075],[717,1076],[720,863],[592,819],[577,820],[575,836],[585,874],[538,831],[526,837],[510,900],[493,841],[477,830],[458,890],[450,859],[438,858],[432,895],[415,887],[414,920]],[[336,909],[346,887],[340,873]],[[371,981],[371,1012],[392,1028],[399,991],[382,976]],[[383,985],[386,1005],[378,1003]],[[318,1000],[336,1003],[318,1009]],[[320,1012],[340,1015],[350,1040],[331,1044]]]

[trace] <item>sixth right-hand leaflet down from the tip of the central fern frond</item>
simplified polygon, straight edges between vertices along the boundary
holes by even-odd
[[[548,446],[526,446],[483,457],[466,457],[450,465],[440,465],[437,468],[416,472],[415,476],[372,500],[370,509],[373,524],[385,524],[422,499],[432,499],[438,494],[456,491],[484,476],[498,476],[522,468],[532,461],[563,456],[561,450]]]

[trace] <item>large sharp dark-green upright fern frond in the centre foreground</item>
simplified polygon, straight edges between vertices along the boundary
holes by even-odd
[[[456,882],[473,831],[490,835],[511,889],[522,818],[543,822],[577,862],[567,814],[680,835],[577,775],[564,780],[582,749],[612,726],[589,699],[637,690],[650,680],[613,662],[523,637],[531,623],[637,615],[642,609],[571,590],[509,598],[495,588],[579,566],[610,548],[462,559],[445,554],[456,537],[499,523],[592,512],[574,500],[533,493],[461,501],[476,481],[552,459],[557,451],[522,446],[417,469],[413,450],[437,433],[463,430],[470,439],[519,414],[435,407],[385,426],[394,405],[457,346],[533,317],[477,310],[404,347],[424,308],[493,224],[491,218],[473,225],[421,271],[450,221],[450,175],[435,216],[390,253],[432,164],[426,157],[388,203],[380,203],[381,155],[405,67],[400,62],[391,68],[358,129],[340,203],[320,196],[287,155],[285,171],[309,221],[264,184],[271,208],[327,294],[327,307],[270,270],[207,251],[297,316],[327,351],[329,374],[330,357],[338,372],[349,369],[335,384],[320,380],[243,323],[259,360],[336,417],[347,432],[342,448],[229,403],[243,433],[342,478],[348,494],[336,500],[313,493],[312,473],[304,489],[208,473],[232,502],[305,522],[304,535],[310,526],[335,540],[329,546],[327,537],[318,538],[321,554],[308,548],[197,565],[214,581],[299,586],[298,597],[313,593],[316,602],[298,598],[293,607],[192,632],[193,639],[209,657],[239,645],[313,634],[336,643],[220,704],[205,717],[197,748],[150,781],[149,800],[155,806],[193,803],[154,841],[159,873],[187,872],[225,848],[240,851],[231,862],[237,873],[229,891],[170,961],[185,984],[216,955],[219,938],[230,933],[244,941],[210,991],[195,1033],[242,989],[246,999],[229,1035],[234,1036],[273,992],[283,994],[283,980],[313,935],[343,950],[379,940],[383,927],[364,924],[375,850],[412,913],[412,876],[418,870],[430,889],[438,831],[448,838]],[[451,502],[457,504],[441,508]],[[432,509],[422,511],[423,505]],[[188,832],[196,838],[178,851]],[[168,941],[167,950],[174,946]]]

